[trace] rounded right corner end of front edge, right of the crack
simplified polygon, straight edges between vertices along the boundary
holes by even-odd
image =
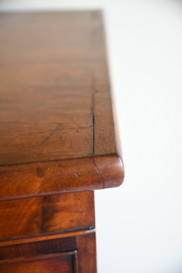
[[[95,156],[94,162],[103,181],[103,188],[119,187],[124,181],[124,165],[116,154]]]

